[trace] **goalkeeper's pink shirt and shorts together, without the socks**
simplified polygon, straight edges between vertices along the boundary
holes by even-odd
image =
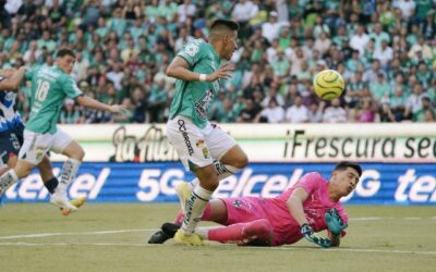
[[[303,235],[300,232],[299,223],[289,212],[287,200],[298,187],[307,191],[308,197],[303,203],[303,209],[308,224],[315,232],[327,228],[324,214],[331,208],[336,208],[342,221],[348,223],[348,215],[342,205],[332,202],[328,197],[328,181],[319,173],[311,172],[302,176],[294,186],[276,198],[241,197],[221,199],[226,203],[228,211],[226,225],[267,219],[274,230],[274,246],[296,243]]]

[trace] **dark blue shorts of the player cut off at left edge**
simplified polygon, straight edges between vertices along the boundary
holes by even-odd
[[[9,157],[19,156],[23,145],[24,125],[19,124],[13,128],[0,132],[0,159],[8,163]]]

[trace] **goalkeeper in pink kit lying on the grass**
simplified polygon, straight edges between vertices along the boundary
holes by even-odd
[[[348,226],[348,215],[339,200],[355,188],[361,175],[359,164],[343,161],[335,166],[329,181],[311,172],[276,198],[214,199],[201,220],[223,226],[199,227],[196,233],[203,239],[246,246],[280,246],[304,237],[320,247],[337,247]],[[177,191],[184,202],[190,186],[182,183]],[[162,244],[172,238],[182,220],[183,211],[174,223],[165,223],[148,243]],[[328,237],[317,234],[324,230]]]

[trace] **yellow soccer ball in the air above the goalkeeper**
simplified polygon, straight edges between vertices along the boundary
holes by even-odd
[[[341,74],[335,70],[323,70],[315,75],[313,82],[315,94],[325,99],[334,100],[335,98],[342,95],[346,88],[346,83]]]

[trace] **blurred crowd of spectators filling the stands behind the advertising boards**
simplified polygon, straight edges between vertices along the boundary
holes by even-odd
[[[435,122],[433,0],[0,0],[0,69],[51,65],[76,52],[73,76],[87,95],[128,115],[65,100],[60,123],[165,122],[184,44],[206,39],[214,18],[241,24],[237,71],[210,106],[218,122]],[[347,90],[318,99],[314,74],[339,71]],[[28,114],[29,89],[19,110]]]

